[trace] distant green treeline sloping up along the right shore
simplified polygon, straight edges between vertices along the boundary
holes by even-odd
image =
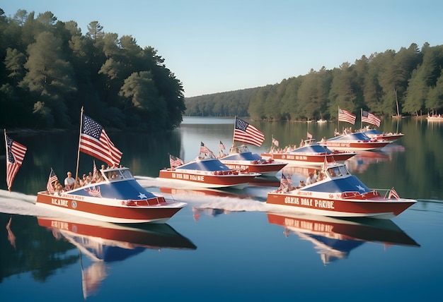
[[[411,44],[398,52],[362,56],[355,64],[345,62],[333,70],[311,70],[276,85],[192,97],[186,99],[185,114],[224,115],[228,111],[220,110],[221,99],[247,106],[245,116],[262,120],[336,119],[338,107],[357,115],[360,109],[379,116],[427,114],[443,109],[442,68],[442,46],[425,43],[420,50]],[[231,115],[235,114],[243,116],[236,111]]]

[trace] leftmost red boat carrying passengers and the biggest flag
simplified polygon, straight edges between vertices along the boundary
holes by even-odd
[[[95,180],[90,183],[85,182],[84,185],[74,181],[72,188],[65,187],[63,191],[61,184],[54,185],[58,178],[51,169],[47,190],[38,192],[36,205],[59,210],[69,215],[115,223],[164,223],[185,207],[186,203],[166,200],[161,195],[146,191],[134,179],[130,169],[120,165],[120,158],[116,157],[117,153],[115,153],[116,148],[105,134],[103,127],[84,115],[83,109],[81,116],[79,152],[107,161],[112,167],[106,168],[103,164],[102,169],[97,169],[94,161]],[[100,140],[90,135],[91,131],[98,133]],[[103,144],[102,140],[106,143]],[[109,147],[111,144],[112,147]],[[93,152],[87,152],[87,150],[93,150]],[[100,152],[96,153],[97,150]],[[105,151],[101,153],[101,150]],[[113,155],[112,159],[106,157],[109,154]],[[78,162],[77,160],[77,171]]]

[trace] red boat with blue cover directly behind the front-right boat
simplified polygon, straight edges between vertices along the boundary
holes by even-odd
[[[262,153],[264,159],[275,159],[280,162],[287,162],[289,165],[314,165],[321,166],[325,160],[343,162],[357,155],[350,151],[332,151],[328,147],[320,145],[314,139],[304,140],[304,145],[294,150],[277,152],[272,149],[270,152]]]

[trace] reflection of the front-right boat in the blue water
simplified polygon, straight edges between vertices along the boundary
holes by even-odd
[[[382,243],[385,247],[420,246],[388,219],[337,219],[292,213],[267,213],[267,219],[270,224],[284,227],[284,236],[295,234],[311,241],[324,265],[346,259],[351,250],[365,242]]]

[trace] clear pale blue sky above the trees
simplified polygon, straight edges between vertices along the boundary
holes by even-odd
[[[6,16],[51,11],[57,20],[76,21],[83,34],[98,21],[105,32],[132,35],[166,60],[185,97],[280,83],[411,43],[443,44],[439,0],[1,2]]]

